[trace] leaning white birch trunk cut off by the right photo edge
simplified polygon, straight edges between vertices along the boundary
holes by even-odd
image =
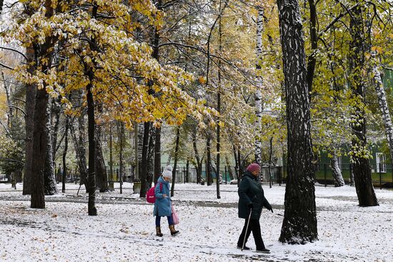
[[[387,106],[387,99],[384,91],[384,84],[382,84],[381,72],[379,71],[377,63],[374,64],[372,72],[374,74],[373,80],[374,80],[375,90],[377,91],[379,109],[381,109],[382,119],[384,119],[384,126],[385,126],[387,142],[389,144],[390,157],[393,159],[392,118],[390,117],[389,107]]]

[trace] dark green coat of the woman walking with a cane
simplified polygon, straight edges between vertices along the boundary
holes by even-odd
[[[249,205],[252,204],[251,219],[259,219],[262,213],[262,207],[272,208],[267,199],[264,197],[264,190],[258,177],[246,171],[242,177],[237,190],[239,193],[239,218],[249,217]]]

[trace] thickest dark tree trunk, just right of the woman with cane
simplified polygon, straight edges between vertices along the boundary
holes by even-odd
[[[279,241],[316,241],[314,167],[302,19],[297,0],[278,0],[287,104],[288,177]]]

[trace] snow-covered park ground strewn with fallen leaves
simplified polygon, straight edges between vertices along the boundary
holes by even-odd
[[[46,208],[29,208],[29,196],[0,184],[0,261],[393,261],[393,191],[375,188],[380,206],[360,208],[354,187],[316,187],[319,241],[287,245],[278,241],[284,186],[264,185],[274,213],[264,210],[262,237],[272,253],[236,249],[244,220],[237,217],[237,186],[176,184],[179,213],[171,237],[154,231],[153,205],[132,194],[97,193],[98,216],[87,216],[84,191],[68,183],[66,193],[46,197]],[[61,185],[59,184],[59,188]],[[255,248],[250,236],[248,245]]]

